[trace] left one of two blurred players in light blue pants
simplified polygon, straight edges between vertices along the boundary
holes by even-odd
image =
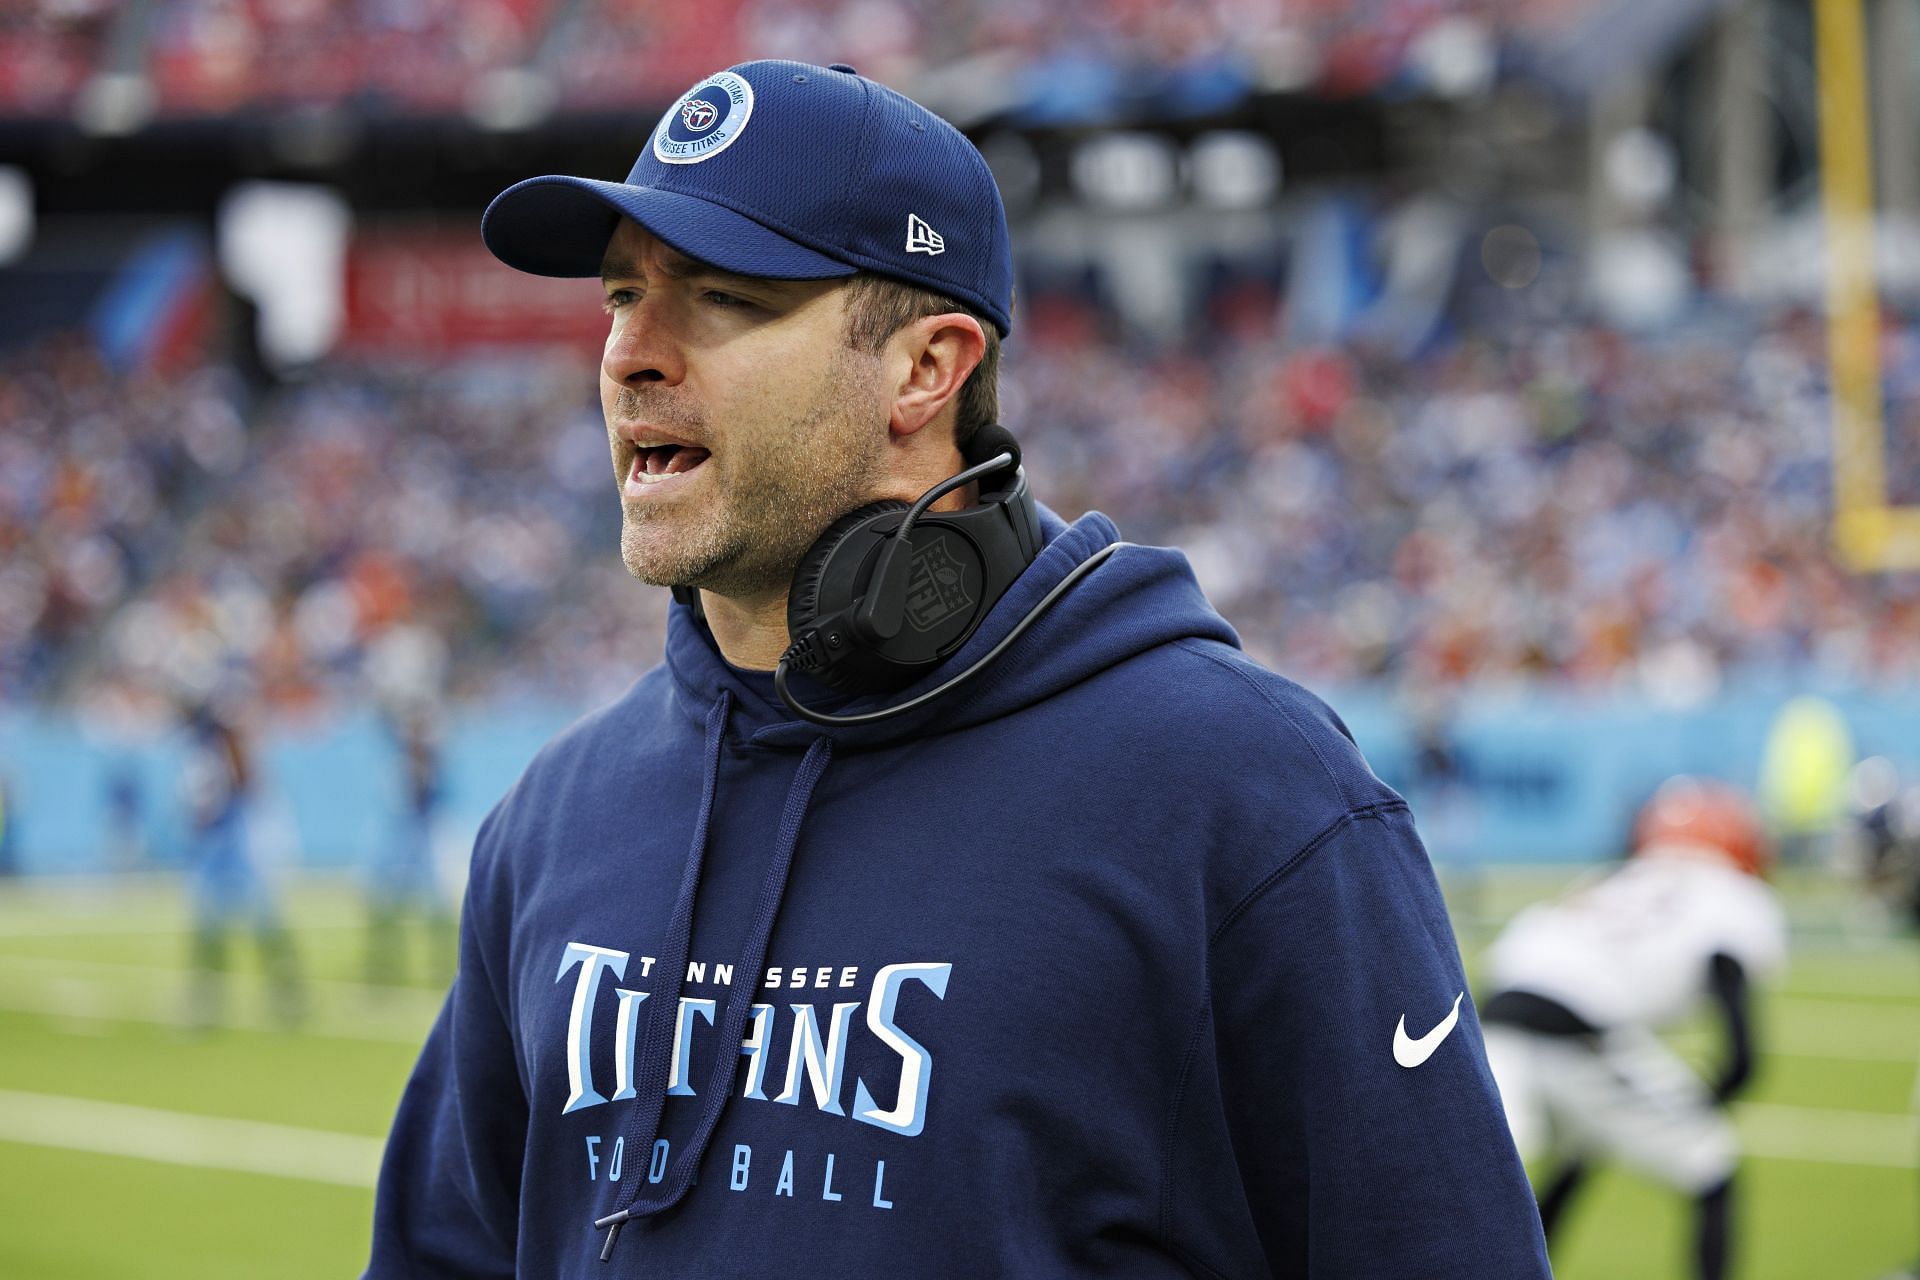
[[[192,1025],[221,1021],[221,981],[227,935],[250,923],[273,986],[275,1021],[292,1025],[303,1011],[294,942],[280,921],[267,881],[248,846],[248,802],[253,766],[246,739],[230,714],[211,702],[188,710],[188,756],[180,783],[190,827],[188,883],[194,910]]]

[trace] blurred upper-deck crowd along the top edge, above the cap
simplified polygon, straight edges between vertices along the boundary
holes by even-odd
[[[778,50],[883,81],[954,69],[956,98],[1043,113],[1210,111],[1240,94],[1471,90],[1494,48],[1594,0],[27,0],[0,6],[0,109],[65,113],[100,73],[161,115],[242,107],[461,111],[536,73],[559,106],[659,102]],[[493,86],[497,88],[497,86]],[[549,104],[553,106],[553,104]]]

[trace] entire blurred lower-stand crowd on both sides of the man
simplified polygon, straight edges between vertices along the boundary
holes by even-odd
[[[1244,299],[1242,299],[1244,303]],[[1824,324],[1540,324],[1413,359],[1202,342],[1023,305],[1004,416],[1043,499],[1188,551],[1306,683],[1549,681],[1674,704],[1770,674],[1920,676],[1920,578],[1830,551]],[[1887,338],[1895,416],[1920,330]],[[280,712],[595,699],[657,660],[620,568],[586,355],[326,365],[257,403],[217,365],[0,363],[0,693]]]

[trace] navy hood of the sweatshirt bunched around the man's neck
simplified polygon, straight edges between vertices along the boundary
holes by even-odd
[[[1119,530],[1096,510],[1066,524],[1041,507],[1041,555],[1000,597],[979,631],[927,676],[885,695],[849,699],[804,677],[795,677],[795,691],[808,704],[835,714],[906,702],[977,662],[1075,566],[1119,541]],[[774,674],[730,664],[707,624],[680,603],[668,616],[666,668],[674,699],[693,723],[703,723],[714,700],[728,693],[733,699],[733,731],[756,747],[804,750],[828,737],[835,752],[858,752],[1008,716],[1135,654],[1188,637],[1240,643],[1200,593],[1185,555],[1169,547],[1123,545],[972,681],[879,723],[826,729],[797,720],[774,693]]]

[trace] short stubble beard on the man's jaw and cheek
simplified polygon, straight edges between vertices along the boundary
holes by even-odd
[[[626,572],[724,597],[785,593],[814,539],[874,495],[885,438],[860,413],[864,391],[851,359],[837,359],[812,403],[733,434],[726,470],[708,478],[714,493],[699,507],[622,501]]]

